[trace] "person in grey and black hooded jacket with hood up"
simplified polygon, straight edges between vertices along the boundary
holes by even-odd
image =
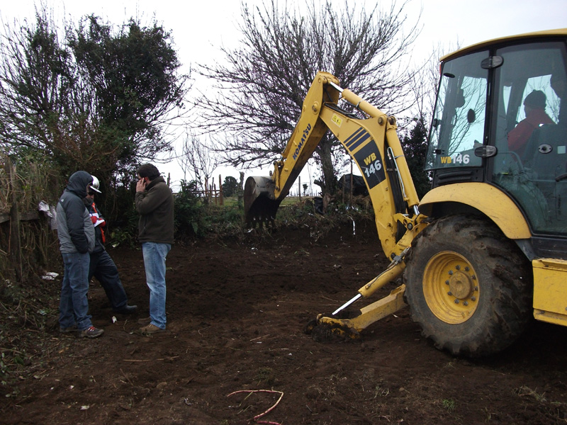
[[[66,334],[79,331],[79,336],[96,338],[103,334],[89,315],[89,263],[94,249],[94,226],[83,198],[93,182],[86,171],[77,171],[57,202],[57,237],[63,257],[64,274],[59,304],[59,330]]]

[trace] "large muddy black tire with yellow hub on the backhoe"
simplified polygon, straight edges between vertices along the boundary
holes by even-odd
[[[454,356],[497,353],[532,317],[532,271],[522,251],[492,222],[454,215],[412,243],[405,302],[422,335]]]

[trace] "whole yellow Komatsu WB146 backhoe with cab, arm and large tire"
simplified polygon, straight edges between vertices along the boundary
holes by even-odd
[[[315,76],[274,170],[245,183],[247,220],[274,220],[330,130],[359,167],[391,264],[308,329],[357,336],[409,305],[437,348],[478,357],[512,344],[532,314],[567,325],[566,45],[567,28],[442,58],[425,164],[432,189],[422,200],[395,118],[331,74]],[[340,318],[400,276],[390,295]]]

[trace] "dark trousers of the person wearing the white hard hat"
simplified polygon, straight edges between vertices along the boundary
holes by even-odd
[[[118,268],[106,251],[91,253],[91,264],[89,266],[89,282],[92,277],[99,280],[101,286],[111,302],[112,310],[118,311],[128,305],[128,296],[125,293]]]

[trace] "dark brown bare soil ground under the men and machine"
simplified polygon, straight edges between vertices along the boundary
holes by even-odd
[[[279,229],[174,246],[167,332],[150,337],[134,333],[148,315],[141,251],[111,249],[139,313],[113,324],[94,283],[100,339],[61,336],[55,313],[47,332],[22,327],[35,351],[28,348],[21,378],[2,394],[0,423],[566,423],[566,328],[534,323],[507,351],[476,361],[434,348],[407,307],[356,342],[321,344],[303,334],[308,320],[342,305],[386,265],[376,229],[356,233]]]

